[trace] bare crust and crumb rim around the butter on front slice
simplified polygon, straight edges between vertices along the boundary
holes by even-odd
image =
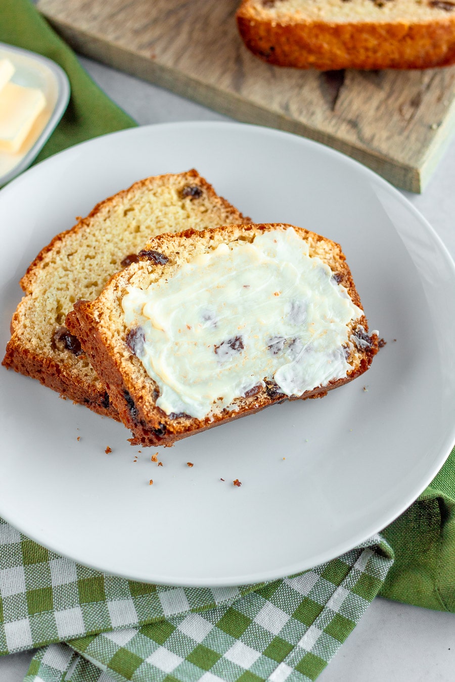
[[[368,336],[368,323],[362,316],[353,325],[352,332],[361,325],[362,332],[368,338],[365,349],[357,350],[349,356],[351,371],[344,379],[331,381],[329,384],[306,391],[302,396],[288,398],[280,393],[273,381],[266,382],[265,388],[237,400],[237,409],[224,410],[204,419],[177,415],[171,417],[162,412],[155,404],[158,386],[147,375],[141,361],[128,351],[125,343],[127,329],[121,312],[121,299],[126,293],[128,284],[148,286],[151,278],[166,277],[177,265],[177,260],[190,253],[191,248],[216,248],[218,243],[235,239],[250,240],[267,230],[285,230],[289,226],[283,224],[243,224],[196,232],[187,230],[177,235],[159,235],[147,244],[155,252],[165,254],[168,259],[165,265],[151,265],[147,258],[135,263],[121,273],[116,273],[108,282],[104,291],[95,301],[78,301],[74,305],[74,314],[67,319],[72,331],[77,333],[83,348],[91,358],[93,366],[106,382],[109,395],[117,407],[123,424],[132,431],[133,445],[143,446],[172,445],[175,441],[198,433],[218,424],[224,424],[245,415],[254,414],[265,407],[284,400],[306,400],[320,398],[327,391],[355,379],[365,372],[377,353],[378,338]],[[353,302],[361,307],[359,295],[353,282],[351,271],[346,263],[340,246],[320,235],[294,228],[302,239],[310,245],[310,252],[322,250],[324,260],[331,267],[337,281],[347,288]],[[182,255],[183,254],[183,255]],[[180,261],[179,261],[180,262]],[[115,332],[113,333],[113,327]],[[236,401],[235,401],[236,402]]]

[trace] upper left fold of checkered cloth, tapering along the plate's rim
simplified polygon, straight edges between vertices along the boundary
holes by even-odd
[[[104,575],[0,520],[0,655],[218,606],[256,587],[183,590]]]

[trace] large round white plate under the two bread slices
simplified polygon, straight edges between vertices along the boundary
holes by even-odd
[[[443,464],[454,441],[455,269],[401,194],[331,149],[237,123],[147,126],[63,151],[0,192],[2,345],[18,280],[44,244],[133,181],[192,166],[256,222],[339,241],[387,345],[323,400],[160,448],[162,467],[120,424],[2,368],[0,515],[56,552],[136,580],[257,582],[380,531]]]

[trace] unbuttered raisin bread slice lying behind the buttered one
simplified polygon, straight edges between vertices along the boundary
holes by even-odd
[[[104,383],[65,326],[73,303],[98,296],[153,235],[243,219],[196,170],[149,177],[102,201],[57,235],[20,281],[25,296],[12,318],[3,365],[118,419]]]

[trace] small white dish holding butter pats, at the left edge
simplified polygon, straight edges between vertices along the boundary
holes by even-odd
[[[12,45],[0,43],[0,59],[10,59],[16,71],[12,82],[42,90],[46,106],[33,123],[26,140],[26,151],[0,151],[0,187],[28,168],[65,113],[70,100],[70,83],[54,61]]]

